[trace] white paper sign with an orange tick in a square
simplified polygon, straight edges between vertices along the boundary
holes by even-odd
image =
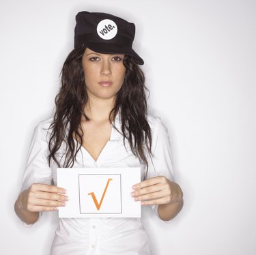
[[[57,168],[57,185],[69,198],[59,218],[140,218],[130,194],[140,181],[141,168]]]

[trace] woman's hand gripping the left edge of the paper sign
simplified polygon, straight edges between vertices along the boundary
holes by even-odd
[[[34,183],[18,196],[17,204],[20,209],[29,212],[55,211],[64,207],[68,196],[66,190],[54,185]]]

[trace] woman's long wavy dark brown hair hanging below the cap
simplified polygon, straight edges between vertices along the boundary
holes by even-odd
[[[55,115],[49,128],[49,165],[51,160],[54,160],[59,167],[72,167],[83,143],[81,118],[89,120],[83,111],[88,100],[82,67],[85,49],[86,46],[82,45],[72,50],[61,70],[61,88],[55,97]],[[119,113],[124,145],[127,139],[132,153],[147,166],[147,154],[151,155],[152,134],[147,122],[145,76],[133,57],[126,55],[124,66],[124,84],[116,95],[115,106],[110,112],[109,120],[115,119]],[[66,145],[66,152],[61,166],[57,160],[57,152],[63,142]]]

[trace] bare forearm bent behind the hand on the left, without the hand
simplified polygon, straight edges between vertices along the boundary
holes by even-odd
[[[38,211],[27,211],[23,209],[20,202],[22,196],[23,193],[21,193],[20,196],[18,196],[18,199],[14,204],[14,211],[16,215],[18,215],[18,218],[20,218],[20,220],[27,224],[33,224],[38,220],[39,213]]]

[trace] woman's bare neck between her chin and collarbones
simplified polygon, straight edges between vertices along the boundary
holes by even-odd
[[[109,114],[114,107],[111,100],[88,100],[85,105],[85,115],[90,121],[104,122],[109,120]]]

